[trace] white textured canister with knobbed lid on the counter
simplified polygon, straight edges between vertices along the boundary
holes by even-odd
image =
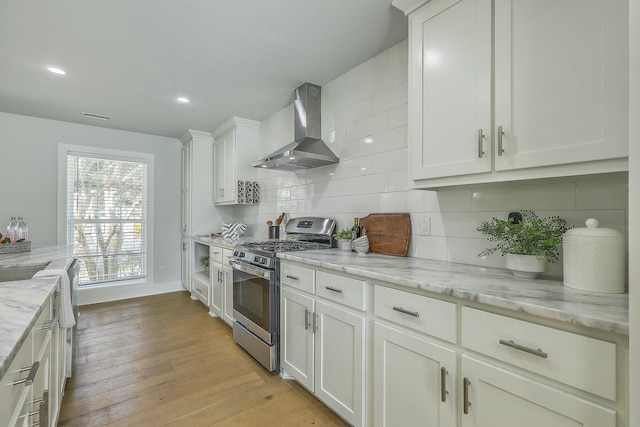
[[[562,238],[564,285],[583,291],[624,293],[624,235],[612,228],[598,228],[595,218],[585,224],[586,228],[572,228]]]

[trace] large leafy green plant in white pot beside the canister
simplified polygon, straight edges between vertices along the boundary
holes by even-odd
[[[515,276],[535,278],[544,272],[546,263],[558,262],[558,245],[570,228],[559,216],[540,218],[528,210],[512,212],[507,219],[482,221],[478,231],[496,246],[483,250],[479,256],[500,250],[506,256],[506,267]]]

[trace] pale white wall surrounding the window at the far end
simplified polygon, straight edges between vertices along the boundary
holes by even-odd
[[[61,143],[154,155],[154,283],[137,294],[180,289],[181,144],[177,139],[0,113],[0,225],[4,228],[12,215],[24,216],[33,246],[56,244]],[[159,274],[160,266],[165,267],[164,275]],[[132,295],[121,297],[125,296]],[[97,298],[117,297],[114,291],[103,291]]]

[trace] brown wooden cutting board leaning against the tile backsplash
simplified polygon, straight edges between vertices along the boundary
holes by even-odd
[[[408,213],[369,214],[360,218],[369,238],[369,252],[407,256],[411,240],[411,216]]]

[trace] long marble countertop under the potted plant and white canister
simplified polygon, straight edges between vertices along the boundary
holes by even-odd
[[[355,274],[549,319],[629,335],[629,295],[567,288],[560,281],[516,278],[508,270],[420,258],[357,255],[338,249],[279,253],[312,267]]]

